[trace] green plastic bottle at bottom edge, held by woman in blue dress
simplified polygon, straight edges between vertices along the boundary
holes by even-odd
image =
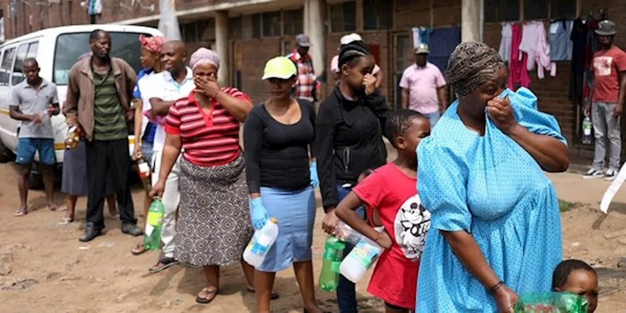
[[[587,299],[571,292],[531,292],[515,304],[515,313],[587,313]]]

